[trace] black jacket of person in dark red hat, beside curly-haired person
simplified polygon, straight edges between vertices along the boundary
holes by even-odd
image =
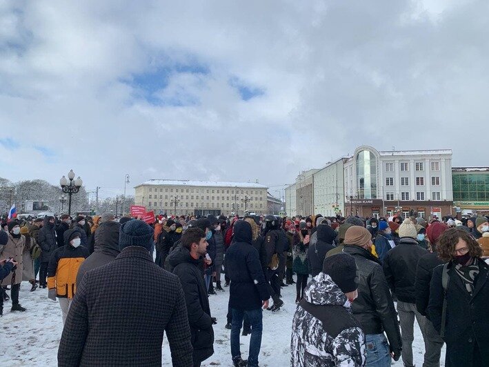
[[[418,261],[415,281],[416,308],[423,316],[427,315],[433,270],[440,264],[443,264],[443,261],[439,259],[437,252],[428,252]]]

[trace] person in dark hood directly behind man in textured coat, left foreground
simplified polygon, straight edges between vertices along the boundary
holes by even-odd
[[[89,270],[110,263],[121,252],[119,250],[119,230],[121,225],[116,221],[100,224],[95,232],[94,252],[81,264],[77,275],[77,286],[81,284],[83,275]]]

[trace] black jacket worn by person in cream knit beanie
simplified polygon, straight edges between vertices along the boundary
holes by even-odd
[[[427,250],[411,237],[402,237],[399,245],[387,252],[383,258],[383,272],[392,293],[399,301],[416,303],[416,268]]]

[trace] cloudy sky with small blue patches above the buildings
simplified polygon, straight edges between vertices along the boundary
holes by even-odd
[[[275,190],[363,144],[488,165],[488,29],[486,0],[2,1],[0,177]]]

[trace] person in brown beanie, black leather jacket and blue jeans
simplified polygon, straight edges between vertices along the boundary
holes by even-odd
[[[371,252],[372,235],[366,228],[351,226],[344,244],[343,252],[352,255],[359,270],[358,298],[352,313],[365,333],[366,366],[390,367],[391,357],[395,361],[401,357],[401,333],[386,276]]]

